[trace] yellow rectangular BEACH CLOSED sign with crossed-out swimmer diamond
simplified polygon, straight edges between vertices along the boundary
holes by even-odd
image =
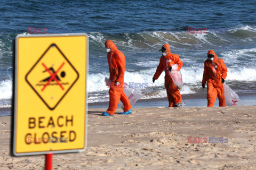
[[[85,34],[17,36],[14,155],[86,146]]]

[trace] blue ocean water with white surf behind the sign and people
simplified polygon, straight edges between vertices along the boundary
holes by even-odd
[[[256,1],[1,1],[0,107],[11,107],[12,40],[28,28],[89,36],[89,102],[107,101],[107,52],[113,40],[126,56],[126,82],[148,83],[144,98],[165,97],[164,73],[152,83],[165,43],[183,62],[181,94],[202,92],[209,49],[228,67],[227,84],[256,90]],[[188,33],[188,28],[207,29]],[[101,61],[101,62],[99,62]],[[205,91],[204,91],[205,92]]]

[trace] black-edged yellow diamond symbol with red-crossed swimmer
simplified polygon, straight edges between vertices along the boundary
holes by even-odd
[[[26,81],[53,110],[78,80],[79,74],[60,48],[52,44],[26,75]]]

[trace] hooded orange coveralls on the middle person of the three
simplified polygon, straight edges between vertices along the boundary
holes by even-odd
[[[165,44],[163,45],[163,47],[167,50],[166,56],[162,56],[160,58],[159,65],[157,66],[156,73],[153,79],[157,80],[163,70],[165,71],[164,86],[167,92],[169,107],[173,107],[175,104],[180,103],[182,101],[182,98],[179,89],[175,86],[171,75],[169,74],[169,67],[171,67],[171,64],[178,64],[179,71],[183,63],[180,60],[179,55],[171,53],[171,48],[169,44]]]

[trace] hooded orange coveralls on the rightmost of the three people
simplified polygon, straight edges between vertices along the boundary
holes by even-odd
[[[213,50],[209,50],[207,55],[209,54],[213,54],[214,59],[213,61],[207,59],[204,62],[202,81],[202,84],[207,81],[207,106],[213,107],[217,96],[219,98],[219,106],[226,106],[221,78],[226,79],[228,70],[224,61],[221,58],[217,58]]]

